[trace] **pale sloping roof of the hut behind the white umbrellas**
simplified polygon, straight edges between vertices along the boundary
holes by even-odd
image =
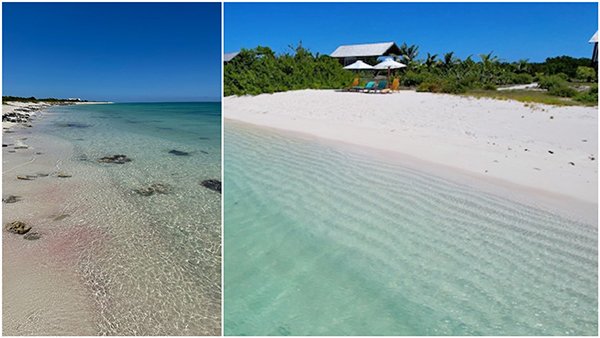
[[[331,57],[339,59],[344,66],[357,60],[373,62],[370,59],[380,56],[394,56],[400,54],[400,48],[395,42],[366,43],[357,45],[342,45],[336,48]]]

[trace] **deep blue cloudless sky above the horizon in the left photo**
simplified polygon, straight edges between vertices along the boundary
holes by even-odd
[[[221,97],[220,3],[3,3],[2,94]]]

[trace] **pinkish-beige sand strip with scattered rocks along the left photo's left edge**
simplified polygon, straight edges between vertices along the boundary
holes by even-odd
[[[71,210],[63,203],[69,191],[79,186],[56,176],[62,169],[62,159],[72,154],[72,146],[36,130],[39,117],[50,106],[34,111],[31,121],[11,123],[8,128],[5,124],[10,122],[3,122],[3,145],[7,145],[2,160],[3,228],[9,222],[24,221],[32,226],[29,233],[42,237],[25,240],[4,230],[4,335],[63,335],[67,333],[65,328],[95,333],[94,309],[72,258],[80,249],[73,241],[65,240],[65,229],[53,227],[53,218],[69,216],[66,212]],[[10,149],[17,143],[25,148]],[[31,182],[15,179],[25,174],[37,177]],[[4,201],[8,196],[18,196],[18,201],[9,204]],[[70,291],[65,293],[65,288]],[[36,309],[33,314],[32,308]],[[57,322],[59,318],[53,315],[57,308],[69,314],[67,320]]]

